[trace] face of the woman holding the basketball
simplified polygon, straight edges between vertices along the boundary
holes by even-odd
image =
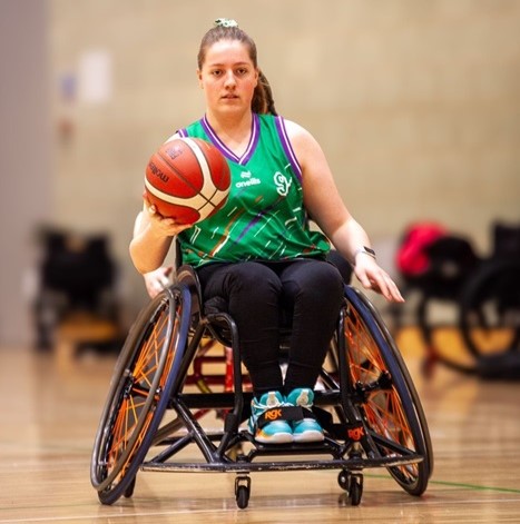
[[[213,43],[197,75],[208,110],[224,115],[251,110],[258,70],[246,45],[238,40]]]

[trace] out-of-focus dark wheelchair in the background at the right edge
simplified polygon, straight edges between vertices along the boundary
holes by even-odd
[[[404,290],[420,294],[426,375],[440,362],[482,377],[520,378],[520,227],[494,224],[492,245],[481,258],[467,238],[445,234],[423,247],[424,271],[402,274]],[[453,306],[449,320],[439,315],[445,306]],[[463,352],[453,350],[447,327],[457,329]]]

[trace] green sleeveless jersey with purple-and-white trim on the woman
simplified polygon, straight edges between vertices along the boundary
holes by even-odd
[[[178,236],[184,264],[325,257],[330,244],[308,228],[302,171],[282,117],[254,113],[242,157],[219,140],[206,117],[178,132],[215,145],[232,175],[226,205]]]

